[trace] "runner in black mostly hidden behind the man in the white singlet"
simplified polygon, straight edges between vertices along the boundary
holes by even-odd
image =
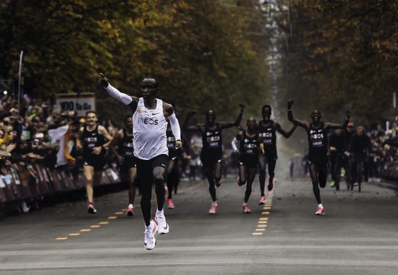
[[[178,170],[178,150],[175,149],[175,137],[171,130],[171,125],[169,119],[166,119],[168,122],[167,125],[167,148],[169,149],[169,160],[167,164],[167,176],[166,176],[166,183],[167,183],[167,203],[169,209],[174,209],[174,202],[172,198],[173,190],[174,192],[177,191],[177,186],[180,181],[180,175]]]

